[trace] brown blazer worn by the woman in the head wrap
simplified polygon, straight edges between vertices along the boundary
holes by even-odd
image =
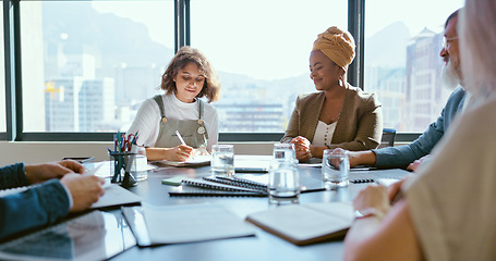
[[[281,142],[289,142],[297,136],[303,136],[312,142],[324,100],[323,91],[299,96]],[[383,110],[375,95],[349,86],[329,148],[375,149],[380,144],[382,135]]]

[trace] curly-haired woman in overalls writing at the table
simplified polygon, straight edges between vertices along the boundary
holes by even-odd
[[[185,161],[194,148],[210,150],[218,140],[218,119],[208,102],[218,99],[220,84],[206,57],[182,47],[162,75],[165,95],[143,102],[128,134],[138,133],[148,160]],[[182,144],[176,132],[182,136]]]

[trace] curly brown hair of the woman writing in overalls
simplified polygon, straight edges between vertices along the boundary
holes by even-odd
[[[162,75],[160,89],[166,90],[167,94],[176,91],[174,77],[180,70],[183,70],[189,63],[194,63],[198,66],[198,71],[205,75],[205,83],[202,91],[196,98],[207,97],[208,102],[218,100],[220,91],[220,83],[214,67],[207,58],[197,49],[189,46],[181,47],[176,53],[166,72]]]

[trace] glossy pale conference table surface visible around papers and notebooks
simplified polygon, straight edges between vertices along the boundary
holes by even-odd
[[[178,206],[195,203],[217,203],[234,212],[244,220],[250,213],[276,208],[268,203],[267,198],[261,197],[171,197],[169,191],[173,186],[162,185],[161,179],[182,175],[198,177],[209,175],[209,166],[202,167],[166,167],[150,171],[148,178],[130,188],[144,202],[155,206]],[[315,166],[299,166],[303,178],[322,179],[320,169]],[[359,174],[360,172],[360,174]],[[399,178],[407,175],[402,170],[387,171],[352,171],[350,178],[356,177],[359,183],[351,183],[346,188],[304,192],[300,195],[300,203],[311,202],[351,202],[358,192],[371,183],[363,177]],[[237,174],[242,175],[242,174]],[[255,175],[255,174],[253,174]],[[359,175],[359,176],[356,176]],[[356,179],[355,178],[355,179]],[[365,182],[363,182],[365,181]],[[368,179],[370,181],[370,179]],[[116,256],[112,260],[342,260],[342,238],[314,244],[295,246],[273,234],[256,227],[256,236],[230,239],[218,239],[201,243],[174,244],[158,247],[133,247]]]

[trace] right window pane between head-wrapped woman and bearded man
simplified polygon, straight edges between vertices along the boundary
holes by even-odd
[[[383,103],[384,127],[423,132],[451,90],[441,87],[446,18],[463,0],[366,1],[364,89]]]

